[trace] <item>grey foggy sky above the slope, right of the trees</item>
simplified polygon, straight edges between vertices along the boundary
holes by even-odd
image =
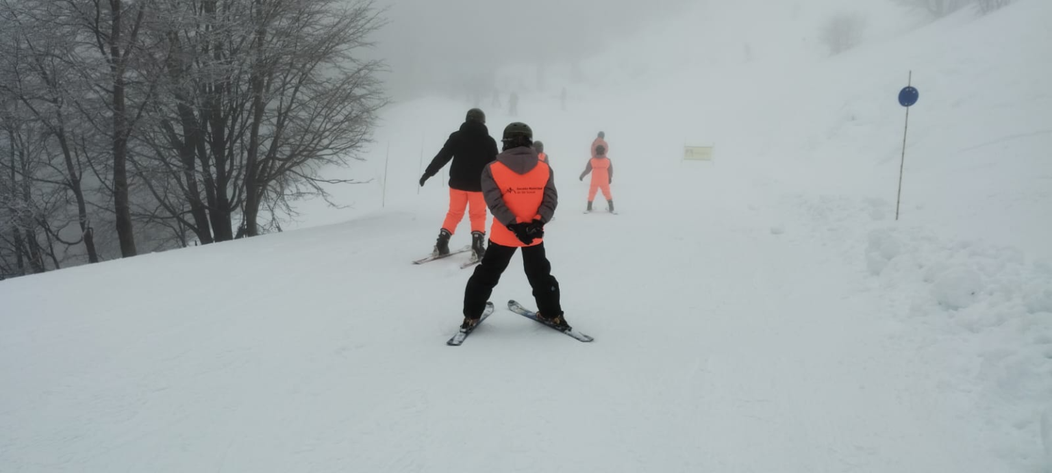
[[[699,0],[377,0],[388,24],[375,54],[396,94],[485,80],[513,63],[601,53]]]

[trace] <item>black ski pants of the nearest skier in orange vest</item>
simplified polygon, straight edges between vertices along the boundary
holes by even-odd
[[[474,273],[467,280],[467,288],[464,289],[465,317],[482,316],[486,301],[489,301],[489,295],[501,281],[501,274],[508,268],[508,263],[511,262],[517,249],[513,246],[489,242],[482,262],[474,268]],[[545,316],[562,315],[563,309],[559,305],[559,282],[551,275],[551,263],[544,253],[544,243],[526,246],[522,250],[523,269],[530,287],[533,288],[533,300],[537,301],[538,311]]]

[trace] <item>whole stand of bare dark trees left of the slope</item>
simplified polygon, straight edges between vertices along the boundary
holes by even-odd
[[[0,277],[280,231],[356,182],[323,170],[386,103],[371,0],[0,0]]]

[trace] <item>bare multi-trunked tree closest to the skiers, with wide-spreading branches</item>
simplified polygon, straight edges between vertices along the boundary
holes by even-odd
[[[160,3],[179,21],[151,32],[165,44],[154,61],[164,80],[137,139],[150,149],[142,168],[174,183],[149,184],[173,228],[202,243],[230,240],[240,209],[239,233],[258,234],[261,209],[272,220],[291,211],[289,199],[351,182],[320,170],[355,158],[385,103],[382,63],[356,57],[382,23],[371,2]]]

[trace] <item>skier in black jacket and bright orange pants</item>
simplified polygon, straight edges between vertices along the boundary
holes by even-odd
[[[423,186],[449,160],[453,161],[449,168],[449,211],[439,230],[432,254],[449,254],[449,238],[464,220],[464,208],[469,207],[472,258],[482,260],[486,252],[486,200],[482,197],[482,169],[497,159],[497,141],[486,128],[486,115],[478,108],[467,110],[460,130],[449,135],[446,144],[420,178],[420,185]]]

